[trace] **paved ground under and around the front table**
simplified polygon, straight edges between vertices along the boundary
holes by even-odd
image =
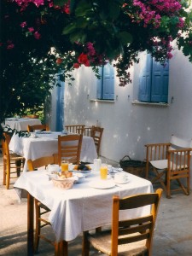
[[[3,183],[3,166],[0,158],[0,255],[26,256],[26,201],[21,203],[13,189]],[[51,230],[47,230],[51,233]],[[69,256],[81,255],[81,236],[69,243]],[[40,241],[39,256],[54,255],[54,248]],[[103,255],[91,249],[90,256]],[[165,195],[154,234],[153,256],[192,256],[192,194],[179,193],[172,199]]]

